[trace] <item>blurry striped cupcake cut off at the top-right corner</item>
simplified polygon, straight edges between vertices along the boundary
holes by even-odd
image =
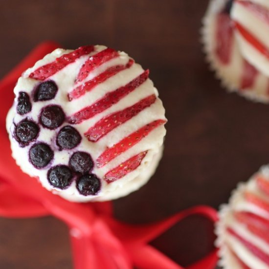
[[[203,20],[207,60],[224,87],[269,102],[269,1],[211,0]]]

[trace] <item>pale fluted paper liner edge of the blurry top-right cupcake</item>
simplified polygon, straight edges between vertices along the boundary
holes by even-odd
[[[259,73],[251,88],[238,90],[240,88],[240,82],[235,82],[235,78],[242,77],[242,73],[238,71],[238,68],[231,71],[229,68],[221,66],[217,57],[214,55],[214,19],[224,9],[227,2],[228,0],[210,0],[205,16],[202,19],[201,42],[203,45],[202,50],[205,53],[205,60],[209,64],[210,70],[214,71],[215,77],[221,81],[222,87],[228,92],[237,92],[239,95],[254,102],[269,103],[268,77]],[[241,56],[237,43],[235,42],[233,46],[233,56],[237,57],[238,61],[243,62],[244,58]],[[238,76],[236,75],[237,72]]]

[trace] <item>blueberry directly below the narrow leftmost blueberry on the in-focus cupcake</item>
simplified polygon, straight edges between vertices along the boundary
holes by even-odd
[[[16,135],[18,141],[22,145],[27,145],[30,141],[34,140],[39,133],[39,127],[32,121],[23,120],[16,127]]]

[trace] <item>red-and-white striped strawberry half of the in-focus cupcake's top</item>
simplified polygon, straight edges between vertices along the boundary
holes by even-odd
[[[106,183],[138,177],[161,150],[165,134],[164,109],[149,70],[105,46],[57,53],[24,76],[56,82],[60,94],[45,105],[56,103],[66,112],[66,124],[83,137],[75,150],[91,155],[94,174]]]

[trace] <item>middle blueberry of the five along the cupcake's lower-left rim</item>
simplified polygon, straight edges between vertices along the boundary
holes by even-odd
[[[53,158],[53,151],[44,143],[35,144],[29,153],[30,161],[36,168],[45,167]]]

